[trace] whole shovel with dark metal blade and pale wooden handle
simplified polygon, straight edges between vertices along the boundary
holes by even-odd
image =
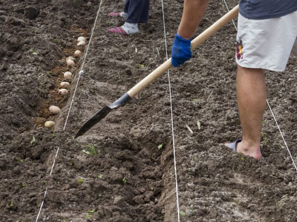
[[[198,37],[191,41],[191,49],[194,50],[203,43],[207,38],[218,32],[224,25],[230,22],[233,18],[238,15],[239,6],[235,6],[231,11],[229,11],[226,15],[216,21],[213,25],[211,25],[208,29],[206,29],[203,33],[201,33]],[[166,62],[160,65],[157,69],[155,69],[152,73],[148,74],[143,80],[137,83],[133,88],[131,88],[128,92],[126,92],[123,96],[121,96],[118,100],[113,102],[110,105],[105,105],[100,111],[98,111],[94,116],[92,116],[77,132],[74,138],[77,138],[84,133],[86,133],[89,129],[91,129],[94,125],[96,125],[101,119],[103,119],[110,111],[117,109],[121,106],[124,106],[128,101],[133,99],[139,92],[141,92],[145,87],[147,87],[152,81],[154,81],[161,74],[165,73],[167,70],[171,68],[171,58],[169,58]]]

